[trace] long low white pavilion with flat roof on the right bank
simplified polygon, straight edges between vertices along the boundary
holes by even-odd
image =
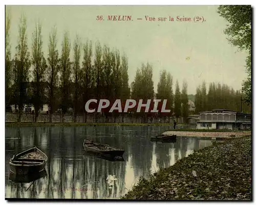
[[[217,109],[200,112],[197,129],[239,129],[246,130],[251,127],[251,114]]]

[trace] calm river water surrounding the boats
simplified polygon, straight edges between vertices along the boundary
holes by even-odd
[[[6,127],[6,197],[114,199],[127,193],[140,176],[173,165],[211,140],[178,138],[176,142],[151,142],[168,126]],[[125,150],[124,161],[88,156],[84,138]],[[37,146],[48,156],[47,175],[33,183],[9,180],[9,160]]]

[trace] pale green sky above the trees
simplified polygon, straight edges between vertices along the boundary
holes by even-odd
[[[246,53],[228,44],[223,33],[227,22],[217,13],[218,6],[7,6],[11,14],[11,52],[15,54],[18,24],[22,13],[27,16],[28,43],[31,51],[31,36],[35,22],[42,23],[42,40],[45,57],[48,54],[49,33],[57,26],[58,48],[61,53],[63,32],[70,32],[71,45],[76,34],[82,42],[115,47],[129,58],[129,82],[134,80],[137,67],[149,62],[153,65],[155,91],[159,72],[166,69],[173,75],[174,86],[180,88],[185,79],[188,93],[195,94],[203,80],[207,83],[225,83],[241,89],[246,78],[244,72]],[[96,16],[103,15],[104,21]],[[132,15],[133,21],[108,21],[108,15]],[[205,22],[178,22],[176,16],[194,18],[203,16]],[[175,21],[146,21],[145,16],[174,17]],[[143,20],[137,20],[143,18]],[[73,47],[71,52],[73,59]],[[189,60],[186,58],[189,57]],[[174,88],[175,89],[175,88]]]

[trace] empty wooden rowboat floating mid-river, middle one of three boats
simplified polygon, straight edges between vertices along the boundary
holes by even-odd
[[[83,141],[83,148],[86,151],[92,151],[101,155],[111,157],[122,156],[124,153],[123,149],[112,147],[108,144],[101,144],[88,139],[85,139]]]

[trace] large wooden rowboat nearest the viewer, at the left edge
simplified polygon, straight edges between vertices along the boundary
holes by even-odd
[[[10,160],[10,172],[20,175],[40,172],[45,169],[48,157],[37,147],[14,155]]]

